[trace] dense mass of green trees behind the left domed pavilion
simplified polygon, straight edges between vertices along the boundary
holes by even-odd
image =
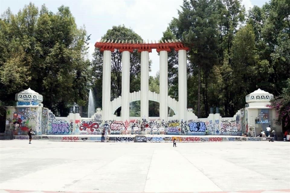
[[[5,11],[0,25],[0,100],[8,104],[31,87],[60,116],[67,115],[69,103],[84,104],[89,36],[77,28],[68,7],[53,14],[30,3],[16,15]]]

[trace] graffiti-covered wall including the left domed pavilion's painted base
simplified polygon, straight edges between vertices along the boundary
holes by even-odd
[[[210,114],[208,118],[168,121],[158,117],[149,119],[131,118],[128,121],[102,120],[101,111],[92,118],[82,118],[78,113],[67,117],[56,117],[49,109],[42,107],[11,108],[6,119],[6,131],[11,135],[27,135],[33,128],[36,135],[70,134],[167,134],[167,135],[242,135],[240,113],[232,118]],[[247,112],[246,112],[247,113]],[[246,116],[244,116],[246,117]],[[137,130],[136,130],[137,128]]]

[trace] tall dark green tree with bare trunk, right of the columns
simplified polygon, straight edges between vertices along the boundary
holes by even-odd
[[[204,96],[205,112],[208,112],[207,90],[201,90],[201,84],[203,83],[207,88],[207,77],[217,59],[215,50],[218,31],[215,1],[184,1],[182,11],[179,11],[177,25],[178,29],[183,31],[184,43],[190,49],[191,68],[197,69],[195,71],[198,74],[197,112],[200,117],[201,92]]]

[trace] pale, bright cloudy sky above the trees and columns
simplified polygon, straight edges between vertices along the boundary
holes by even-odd
[[[85,26],[91,35],[88,58],[92,59],[94,44],[101,40],[112,26],[125,25],[144,40],[160,40],[173,17],[178,17],[183,0],[0,0],[0,13],[10,7],[16,14],[24,5],[34,3],[38,8],[45,4],[49,11],[57,12],[61,5],[68,6],[78,27]],[[267,0],[242,0],[246,10],[253,5],[262,6]],[[159,71],[156,49],[149,54],[152,60],[151,76]]]

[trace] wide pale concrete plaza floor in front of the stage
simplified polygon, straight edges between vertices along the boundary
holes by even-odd
[[[172,143],[2,140],[0,189],[290,191],[290,143],[177,143],[172,147]]]

